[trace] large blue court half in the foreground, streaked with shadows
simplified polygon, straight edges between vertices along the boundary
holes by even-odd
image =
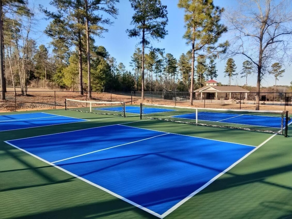
[[[159,218],[255,150],[123,125],[6,142]]]

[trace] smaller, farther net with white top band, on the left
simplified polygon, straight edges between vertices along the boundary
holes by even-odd
[[[98,102],[66,99],[65,110],[126,117],[125,102]]]

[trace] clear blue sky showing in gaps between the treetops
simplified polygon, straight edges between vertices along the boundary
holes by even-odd
[[[29,1],[30,3],[34,2],[35,5],[43,4],[49,10],[53,10],[53,8],[44,1]],[[177,0],[161,0],[161,2],[167,6],[168,25],[166,29],[168,30],[168,35],[160,41],[153,41],[152,45],[154,47],[164,48],[165,53],[171,53],[178,60],[182,53],[186,53],[190,49],[190,46],[186,45],[185,39],[182,38],[185,33],[185,23],[183,18],[184,11],[177,7]],[[225,10],[229,10],[231,7],[236,8],[237,6],[235,0],[214,0],[214,4],[216,6],[224,7]],[[135,48],[141,48],[141,45],[138,44],[140,39],[129,38],[126,33],[126,29],[131,29],[130,23],[133,16],[133,9],[128,0],[120,0],[120,3],[117,4],[117,8],[119,8],[119,15],[116,20],[112,19],[114,24],[106,27],[109,31],[103,34],[103,38],[95,38],[95,44],[98,46],[104,46],[109,54],[116,58],[117,64],[122,62],[128,70],[133,72],[132,67],[129,66],[129,62],[131,61],[131,56],[133,55]],[[45,44],[49,47],[48,43],[51,39],[47,38],[46,35],[42,33],[49,21],[41,19],[44,15],[39,14],[37,17],[40,19],[38,21],[39,25],[37,25],[36,31],[33,34],[35,34],[35,38],[39,44]],[[222,37],[222,41],[225,40],[228,40],[228,34],[225,34]],[[237,65],[237,72],[239,72],[242,68],[244,57],[234,57],[234,60]],[[228,77],[224,77],[226,61],[226,59],[216,60],[218,77],[215,80],[222,84],[228,84]],[[284,77],[279,78],[277,85],[290,85],[290,82],[292,81],[291,67],[282,64],[282,68],[286,69],[286,72],[284,73]],[[240,75],[232,79],[232,85],[241,86],[244,84],[245,78],[240,78]],[[262,80],[262,86],[273,86],[274,84],[275,79],[271,75],[267,75]],[[256,86],[256,75],[248,77],[248,85]]]

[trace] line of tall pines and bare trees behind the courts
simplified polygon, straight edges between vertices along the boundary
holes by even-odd
[[[1,99],[5,100],[6,84],[20,86],[26,95],[32,80],[53,81],[61,88],[88,91],[193,91],[204,82],[218,76],[216,59],[227,57],[225,76],[257,74],[256,109],[259,107],[260,82],[266,73],[275,81],[282,76],[281,61],[289,54],[291,29],[291,1],[249,0],[238,10],[226,14],[224,8],[214,6],[212,0],[178,0],[184,10],[185,33],[189,50],[178,59],[164,48],[154,48],[153,40],[163,39],[167,32],[168,12],[160,0],[129,0],[134,10],[129,37],[137,37],[141,47],[131,56],[133,71],[123,63],[117,64],[106,48],[97,46],[95,36],[102,36],[117,18],[119,0],[52,0],[55,11],[40,10],[51,22],[45,34],[51,38],[52,54],[44,45],[31,38],[33,11],[24,0],[0,1],[0,81]],[[242,2],[244,3],[244,2]],[[277,10],[272,10],[277,9]],[[107,15],[106,18],[104,15]],[[242,15],[242,16],[239,16]],[[228,31],[231,41],[220,42]],[[244,57],[242,68],[236,73],[232,56]],[[229,58],[228,58],[229,56]],[[288,56],[287,56],[288,57]],[[271,66],[272,61],[274,64]],[[277,64],[276,64],[277,63]],[[190,92],[192,105],[192,92]]]

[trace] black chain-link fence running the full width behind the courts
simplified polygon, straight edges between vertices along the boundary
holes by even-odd
[[[6,100],[0,101],[0,111],[23,111],[39,109],[65,108],[65,99],[123,101],[136,105],[141,102],[190,106],[189,92],[144,92],[145,100],[141,100],[141,92],[88,92],[80,95],[77,91],[7,91]],[[201,108],[255,109],[256,93],[200,93],[193,92],[193,106]],[[260,109],[287,110],[292,112],[292,93],[260,93]]]

